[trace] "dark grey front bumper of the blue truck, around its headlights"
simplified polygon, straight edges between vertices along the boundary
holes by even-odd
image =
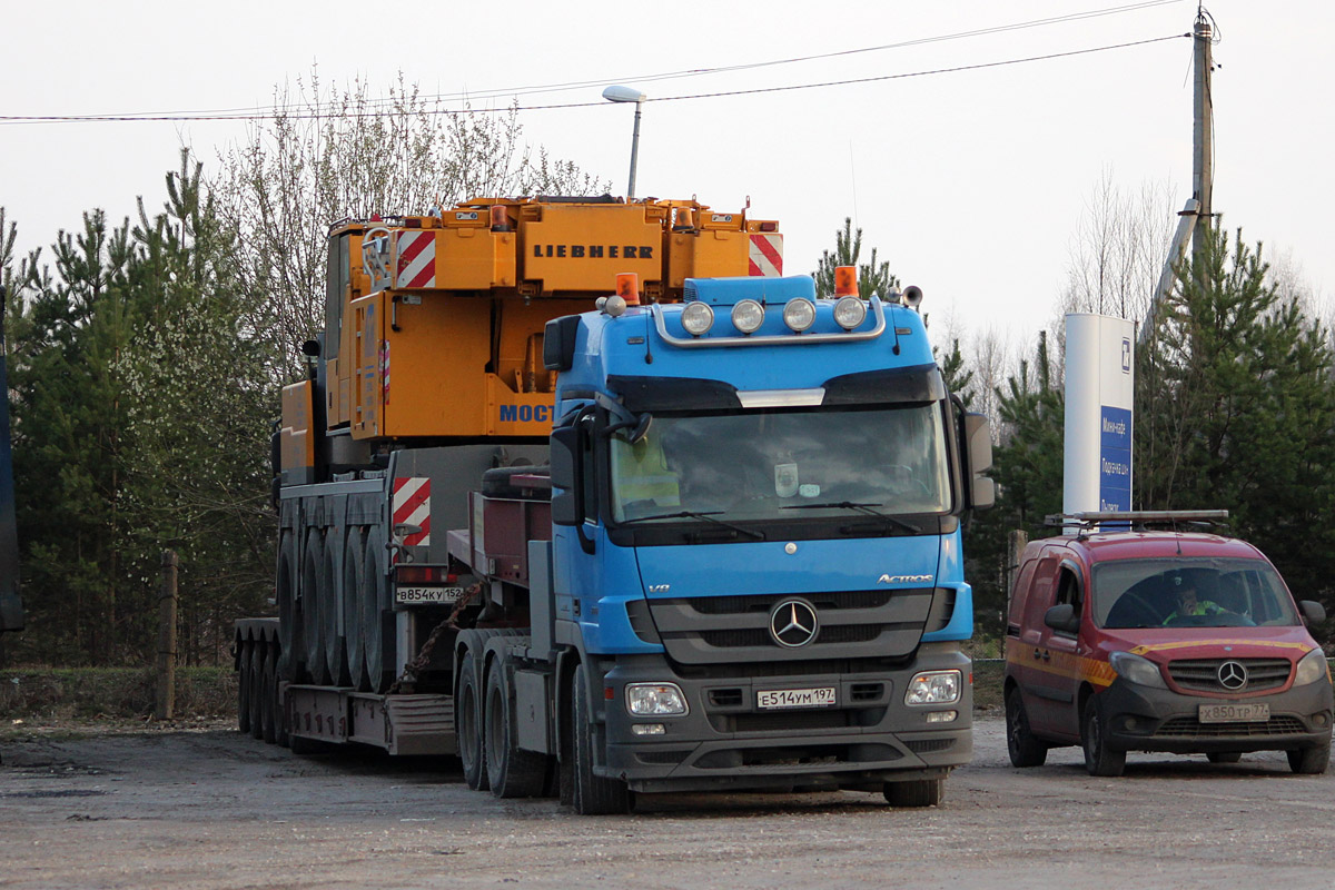
[[[924,644],[908,667],[829,674],[682,677],[661,655],[618,659],[603,678],[606,763],[634,791],[841,787],[944,778],[973,754],[972,667],[955,643]],[[909,706],[914,674],[959,670],[960,698]],[[634,717],[629,683],[676,683],[689,713]],[[761,709],[764,690],[836,690],[826,707]],[[951,714],[953,713],[953,717]],[[936,722],[929,715],[937,714]],[[654,734],[637,735],[635,725]],[[661,730],[657,729],[661,726]],[[645,730],[641,730],[642,733]]]

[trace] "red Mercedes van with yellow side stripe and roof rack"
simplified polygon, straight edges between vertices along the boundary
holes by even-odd
[[[1015,766],[1084,746],[1091,775],[1121,775],[1127,751],[1288,753],[1324,773],[1331,678],[1307,631],[1320,603],[1294,602],[1251,544],[1145,530],[1227,514],[1077,514],[1075,535],[1031,543],[1007,618],[1007,742]],[[1097,522],[1132,531],[1091,531]]]

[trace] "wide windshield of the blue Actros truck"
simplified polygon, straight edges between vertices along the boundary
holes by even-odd
[[[948,512],[943,419],[939,404],[654,415],[635,444],[613,438],[613,520]]]

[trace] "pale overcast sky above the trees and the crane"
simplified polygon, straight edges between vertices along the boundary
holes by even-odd
[[[1328,295],[1335,116],[1320,72],[1335,4],[1207,9],[1222,65],[1215,209]],[[0,115],[264,108],[275,84],[315,64],[376,95],[399,71],[426,93],[589,81],[521,96],[593,103],[526,111],[525,136],[625,193],[633,107],[599,93],[635,84],[650,97],[638,195],[694,195],[721,211],[749,197],[754,215],[781,221],[786,272],[813,271],[852,216],[934,318],[1024,339],[1057,311],[1072,232],[1105,173],[1128,191],[1165,187],[1173,208],[1189,197],[1192,48],[1180,35],[1195,13],[1185,0],[8,4]],[[1055,17],[1068,20],[1007,28]],[[976,31],[991,33],[941,39]],[[757,64],[810,56],[822,57]],[[653,79],[737,65],[748,67]],[[943,72],[968,65],[991,67]],[[858,83],[778,89],[829,81]],[[475,105],[489,103],[510,99]],[[211,165],[244,139],[243,123],[3,123],[0,205],[24,248],[48,244],[88,208],[119,220],[139,195],[160,205],[182,143]]]

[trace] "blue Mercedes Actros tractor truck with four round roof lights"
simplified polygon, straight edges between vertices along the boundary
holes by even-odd
[[[842,290],[698,279],[641,306],[631,282],[547,323],[550,467],[489,471],[450,532],[474,591],[527,590],[454,639],[473,787],[579,813],[941,799],[972,754],[960,534],[993,499],[991,432],[948,391],[917,288]]]

